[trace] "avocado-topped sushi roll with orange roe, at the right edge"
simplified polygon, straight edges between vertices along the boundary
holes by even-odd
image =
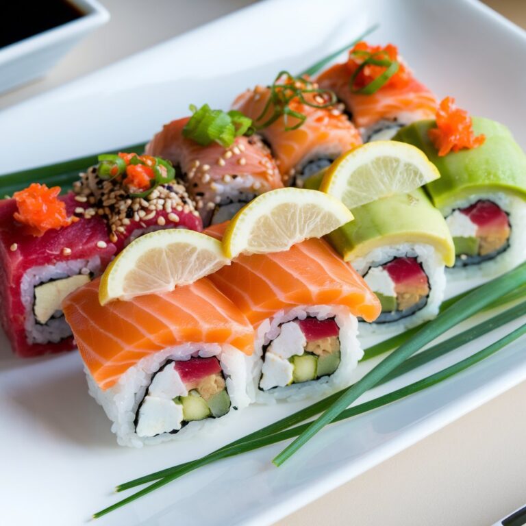
[[[436,121],[395,139],[423,150],[440,171],[426,190],[453,236],[453,279],[492,277],[526,259],[526,155],[508,128],[472,119],[447,97]]]

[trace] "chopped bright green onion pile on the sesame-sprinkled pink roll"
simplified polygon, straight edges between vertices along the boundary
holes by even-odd
[[[203,104],[198,110],[192,104],[190,111],[192,116],[183,128],[183,135],[201,146],[215,141],[228,148],[236,137],[254,132],[252,120],[236,110],[212,110],[208,104]]]

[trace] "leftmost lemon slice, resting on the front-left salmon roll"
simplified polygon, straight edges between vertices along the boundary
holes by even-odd
[[[99,301],[104,305],[168,292],[228,263],[221,242],[210,236],[182,228],[151,232],[130,243],[106,268]]]

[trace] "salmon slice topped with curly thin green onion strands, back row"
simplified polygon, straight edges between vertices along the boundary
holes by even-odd
[[[256,86],[254,90],[247,90],[239,95],[233,108],[255,121],[262,115],[270,95],[269,88]],[[313,94],[305,95],[307,100],[312,97]],[[298,99],[292,99],[289,106],[291,110],[306,116],[298,129],[286,130],[287,125],[291,127],[299,121],[289,118],[286,123],[281,116],[260,132],[271,145],[284,184],[288,184],[292,175],[306,162],[318,158],[334,160],[342,153],[362,144],[358,130],[338,108],[313,108]],[[267,121],[272,113],[271,105],[256,124]]]

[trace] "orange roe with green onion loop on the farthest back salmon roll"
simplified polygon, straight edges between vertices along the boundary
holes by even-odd
[[[363,53],[365,52],[365,53]],[[368,54],[366,54],[368,53]],[[367,42],[358,42],[351,51],[349,51],[349,60],[347,61],[347,68],[351,75],[358,69],[358,67],[370,56],[374,54],[377,60],[391,60],[398,62],[398,71],[392,75],[388,81],[381,86],[380,89],[390,86],[392,88],[403,88],[406,86],[411,78],[408,68],[401,62],[398,55],[398,48],[392,44],[385,47],[370,46]],[[373,80],[377,79],[382,73],[386,71],[386,66],[375,66],[374,64],[367,64],[362,68],[362,71],[356,75],[353,82],[353,88],[359,90],[371,84]]]

